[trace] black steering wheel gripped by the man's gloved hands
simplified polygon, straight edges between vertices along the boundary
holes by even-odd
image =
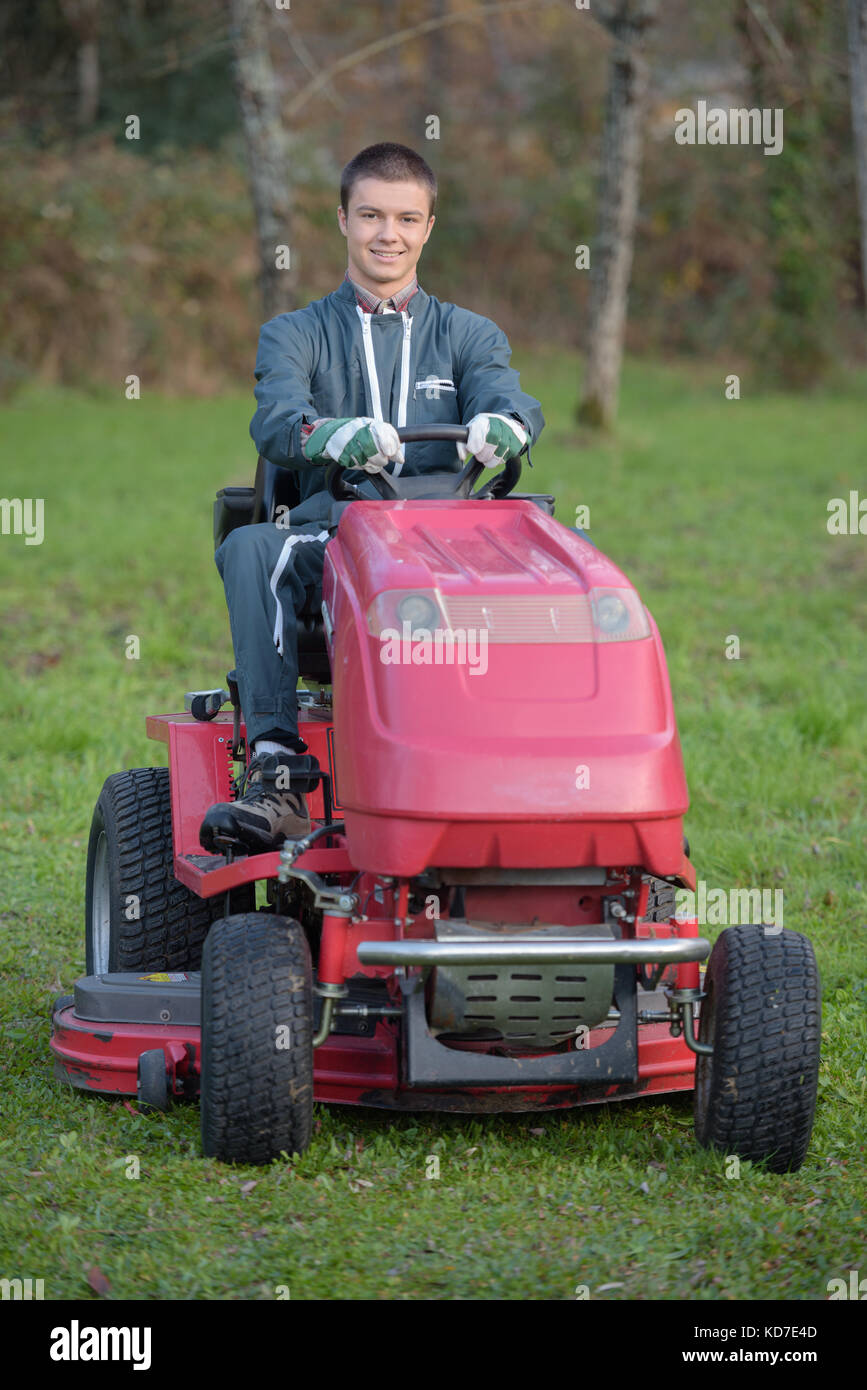
[[[397,431],[402,443],[415,443],[420,439],[445,439],[449,443],[465,443],[470,430],[467,425],[404,425]],[[485,498],[506,498],[514,489],[521,477],[520,457],[507,459],[500,473],[484,482],[478,492],[472,488],[479,475],[485,471],[485,464],[478,459],[468,459],[460,473],[422,473],[417,477],[395,477],[390,473],[368,473],[370,480],[381,498],[399,500],[422,500],[432,498],[467,498],[478,502]],[[325,486],[336,502],[353,499],[370,500],[361,492],[360,485],[349,482],[346,470],[333,461],[325,468]]]

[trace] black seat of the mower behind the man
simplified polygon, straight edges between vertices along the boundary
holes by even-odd
[[[296,507],[300,502],[297,478],[290,468],[281,468],[258,457],[251,488],[221,488],[214,502],[214,549],[239,525],[275,521],[278,507]],[[283,513],[279,513],[281,516]],[[331,684],[331,663],[325,645],[322,614],[310,594],[297,621],[299,676]]]

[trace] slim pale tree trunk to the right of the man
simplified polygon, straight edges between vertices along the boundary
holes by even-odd
[[[654,15],[656,0],[621,0],[610,18],[603,19],[614,47],[602,136],[597,232],[591,247],[586,367],[578,406],[578,420],[597,428],[610,427],[617,416],[649,82],[643,49]]]

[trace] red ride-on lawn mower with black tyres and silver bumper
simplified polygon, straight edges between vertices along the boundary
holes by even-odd
[[[695,1087],[700,1144],[795,1169],[811,945],[728,927],[702,979],[710,945],[674,912],[696,877],[656,624],[553,498],[515,493],[517,460],[472,492],[481,473],[383,473],[365,499],[328,471],[299,644],[306,838],[203,852],[246,759],[233,673],[147,720],[168,769],[99,798],[58,1074],[156,1108],[200,1094],[204,1152],[249,1163],[302,1152],[314,1099],[543,1111]],[[274,520],[290,482],[260,460],[256,488],[220,493],[217,539]]]

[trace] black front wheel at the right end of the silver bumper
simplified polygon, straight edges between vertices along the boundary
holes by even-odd
[[[704,976],[696,1059],[695,1133],[704,1148],[767,1161],[791,1173],[804,1161],[818,1088],[821,986],[799,931],[727,927]]]

